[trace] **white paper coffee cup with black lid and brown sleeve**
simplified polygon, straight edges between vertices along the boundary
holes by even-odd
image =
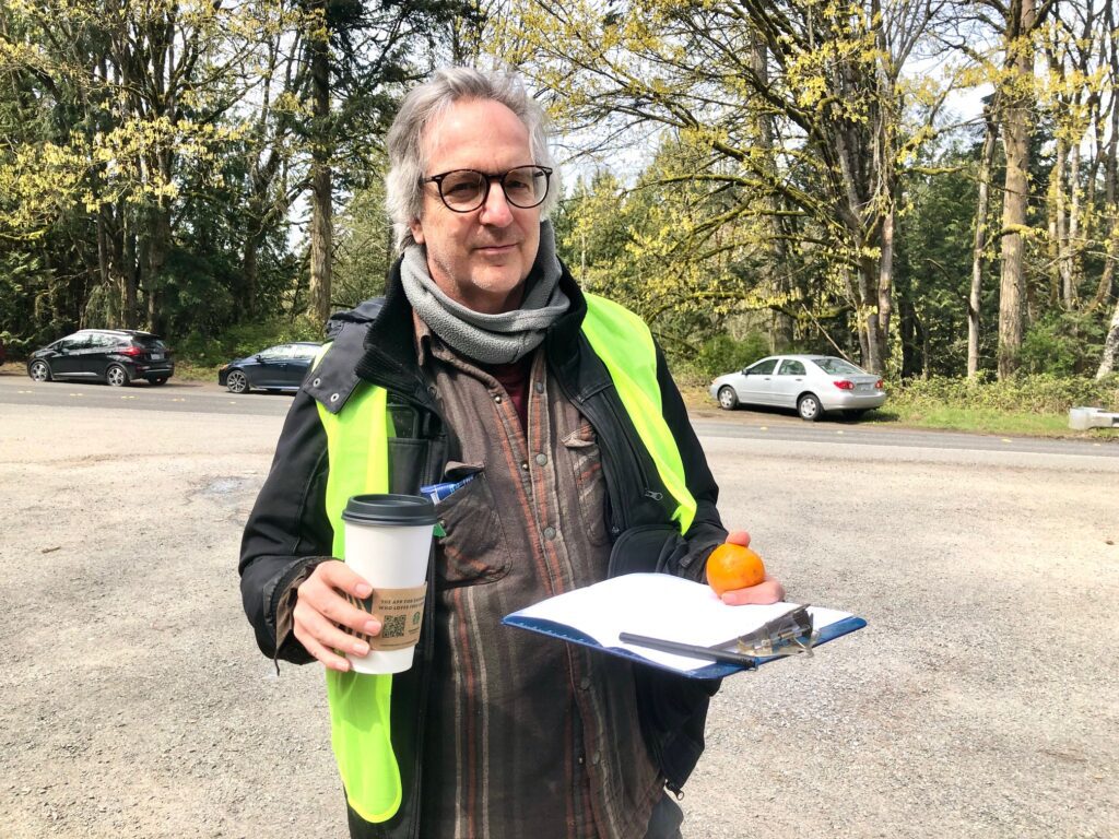
[[[354,496],[342,521],[346,564],[373,586],[365,600],[348,600],[382,622],[379,635],[354,633],[368,642],[367,656],[346,657],[355,672],[403,672],[423,623],[435,506],[421,496]]]

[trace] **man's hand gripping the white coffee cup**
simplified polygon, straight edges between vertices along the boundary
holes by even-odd
[[[320,563],[314,572],[295,590],[298,600],[292,611],[292,631],[309,653],[331,670],[346,672],[349,660],[336,650],[365,656],[369,644],[348,635],[341,626],[349,626],[367,635],[380,633],[380,623],[351,605],[339,592],[355,597],[368,597],[373,586],[352,568],[338,559]]]

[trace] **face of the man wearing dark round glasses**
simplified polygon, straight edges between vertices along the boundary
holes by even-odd
[[[452,169],[487,175],[535,163],[528,131],[520,119],[492,100],[457,102],[423,133],[424,177]],[[424,185],[421,217],[412,235],[427,247],[427,270],[452,300],[477,312],[508,312],[520,305],[540,244],[540,208],[521,209],[505,198],[498,181],[486,202],[453,213],[434,183]]]

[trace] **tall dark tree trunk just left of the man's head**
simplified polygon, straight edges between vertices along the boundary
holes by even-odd
[[[326,323],[330,315],[330,252],[332,249],[332,204],[330,187],[330,56],[326,29],[325,0],[313,8],[322,10],[311,39],[312,114],[314,121],[311,155],[311,285],[308,308],[311,317]]]

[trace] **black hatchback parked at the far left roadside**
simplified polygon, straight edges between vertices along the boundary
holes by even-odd
[[[27,375],[36,381],[85,379],[113,387],[144,379],[166,385],[175,375],[170,347],[151,332],[134,329],[81,329],[59,338],[27,359]]]

